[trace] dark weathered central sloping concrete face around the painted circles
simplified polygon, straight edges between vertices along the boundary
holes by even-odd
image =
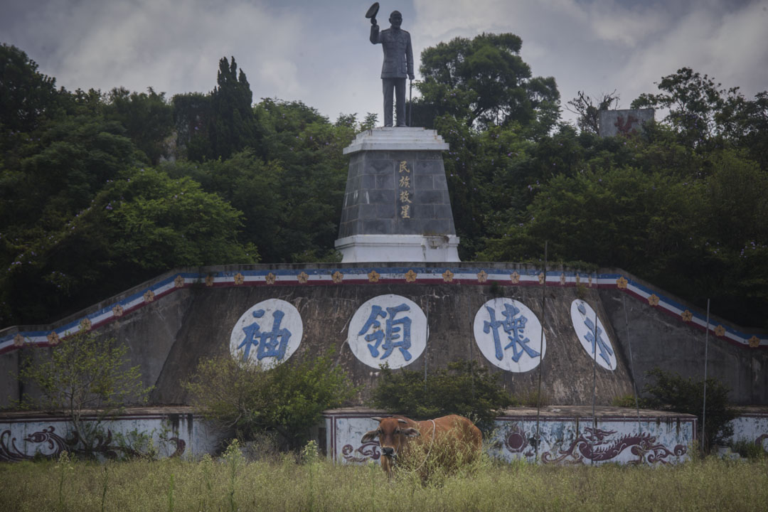
[[[541,319],[541,289],[499,286],[500,296],[517,299]],[[265,299],[278,298],[293,304],[304,321],[304,339],[293,358],[308,358],[335,352],[356,385],[363,385],[361,403],[370,396],[379,372],[353,355],[346,344],[349,319],[368,299],[382,294],[405,296],[428,315],[429,341],[425,352],[406,368],[430,372],[455,360],[474,359],[491,372],[502,375],[502,383],[516,395],[527,395],[538,385],[538,369],[522,374],[502,372],[479,352],[472,334],[477,310],[494,295],[488,286],[390,284],[386,286],[347,285],[325,287],[286,286],[280,289],[227,288],[194,292],[194,299],[176,342],[165,362],[152,396],[154,403],[183,404],[187,395],[181,382],[189,378],[200,358],[223,355],[229,350],[230,332],[243,311]],[[585,299],[594,307],[596,291],[587,291]],[[546,356],[541,365],[542,393],[551,403],[586,404],[592,401],[593,362],[588,357],[571,326],[571,301],[576,289],[548,292],[546,300]],[[604,312],[598,315],[607,325]],[[614,335],[609,333],[611,337]],[[620,395],[632,392],[630,375],[623,357],[614,372],[596,368],[597,401],[609,404]]]

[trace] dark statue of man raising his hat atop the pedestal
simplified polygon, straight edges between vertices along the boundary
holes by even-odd
[[[389,28],[379,32],[376,18],[371,18],[371,42],[384,49],[382,88],[384,91],[384,126],[392,126],[392,90],[397,105],[397,126],[406,126],[406,76],[413,80],[413,50],[411,35],[400,29],[402,15],[392,11]]]

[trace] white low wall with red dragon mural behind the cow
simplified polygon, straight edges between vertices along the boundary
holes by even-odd
[[[375,429],[370,414],[326,416],[326,445],[334,461],[379,463],[378,441],[362,443]],[[484,440],[485,450],[504,461],[523,459],[541,464],[677,464],[689,458],[695,440],[696,418],[592,418],[509,416],[496,420],[495,431]],[[538,443],[537,440],[538,439]],[[538,445],[538,446],[537,446]],[[537,450],[538,448],[538,450]]]

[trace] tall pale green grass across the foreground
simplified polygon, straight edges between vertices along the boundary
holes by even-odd
[[[427,481],[296,457],[111,463],[108,480],[101,464],[62,462],[0,464],[0,510],[768,510],[766,458],[673,467],[483,458]]]

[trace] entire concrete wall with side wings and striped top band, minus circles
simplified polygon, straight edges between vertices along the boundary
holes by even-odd
[[[406,367],[431,372],[457,359],[473,359],[502,375],[517,395],[534,391],[539,369],[512,373],[491,364],[475,343],[475,314],[495,297],[515,299],[542,319],[541,270],[503,263],[407,263],[255,265],[178,269],[54,325],[0,331],[0,403],[24,390],[12,372],[29,345],[52,345],[55,336],[96,329],[129,347],[131,365],[141,365],[145,385],[155,385],[155,405],[185,404],[180,386],[200,358],[229,350],[240,315],[266,299],[290,302],[300,313],[303,339],[291,358],[329,351],[363,385],[359,403],[369,398],[379,372],[360,362],[346,342],[349,322],[364,302],[396,294],[425,312],[429,340]],[[684,305],[621,270],[586,274],[549,269],[545,288],[547,350],[541,387],[550,403],[591,405],[593,378],[598,405],[632,393],[632,368],[638,390],[654,366],[700,378],[703,374],[704,313]],[[616,352],[616,369],[594,361],[571,322],[571,302],[584,299],[598,314]],[[687,315],[687,316],[686,316]],[[628,332],[627,336],[627,321]],[[716,334],[717,332],[717,334]],[[768,337],[713,319],[709,375],[733,388],[739,404],[768,403]],[[630,352],[631,347],[631,352]],[[32,390],[34,391],[34,390]]]

